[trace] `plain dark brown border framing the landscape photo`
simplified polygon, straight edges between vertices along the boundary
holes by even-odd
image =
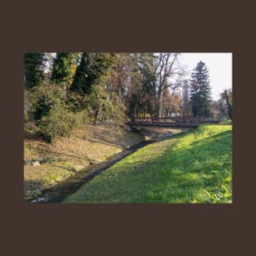
[[[22,2],[2,24],[5,254],[249,254],[255,221],[253,7],[216,2]],[[204,10],[202,5],[204,4]],[[236,9],[236,10],[235,10]],[[234,11],[235,10],[235,11]],[[243,19],[238,19],[244,15]],[[251,30],[250,30],[251,29]],[[231,205],[23,203],[23,52],[233,52]],[[248,92],[249,91],[249,92]],[[246,137],[247,136],[247,137]],[[255,175],[255,174],[254,174]],[[3,254],[3,255],[5,255]]]

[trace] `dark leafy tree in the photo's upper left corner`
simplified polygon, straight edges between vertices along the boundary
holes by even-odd
[[[44,79],[43,59],[43,52],[25,53],[25,88],[34,88]]]

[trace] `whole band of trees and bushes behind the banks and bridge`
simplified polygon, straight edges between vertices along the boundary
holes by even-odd
[[[25,53],[25,122],[46,141],[132,116],[213,115],[203,62],[191,80],[177,52]],[[226,97],[227,98],[227,97]]]

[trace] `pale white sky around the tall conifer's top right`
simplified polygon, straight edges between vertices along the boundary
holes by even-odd
[[[232,53],[231,52],[185,52],[180,61],[191,71],[199,61],[203,61],[209,69],[210,86],[214,100],[224,89],[232,88]]]

